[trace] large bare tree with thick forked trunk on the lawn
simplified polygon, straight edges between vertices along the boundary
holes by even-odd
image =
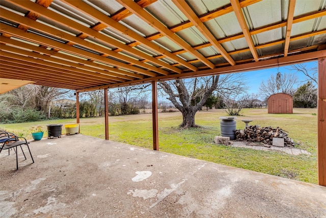
[[[162,90],[169,95],[167,98],[182,113],[180,127],[198,127],[195,124],[195,114],[205,104],[213,91],[227,94],[244,90],[244,80],[239,74],[217,75],[194,79],[177,79],[167,82],[159,82]],[[200,101],[192,105],[192,101],[200,98]]]

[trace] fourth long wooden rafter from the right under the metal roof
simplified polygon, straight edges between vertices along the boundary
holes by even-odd
[[[169,38],[171,41],[173,41],[174,43],[182,47],[189,54],[192,54],[194,57],[201,60],[201,62],[203,62],[208,67],[210,68],[215,67],[214,64],[211,63],[209,60],[207,60],[202,54],[194,50],[192,46],[190,46],[185,41],[183,41],[179,36],[175,35],[171,30],[169,30],[166,26],[164,26],[161,22],[155,19],[152,15],[150,15],[147,11],[145,11],[142,7],[137,5],[135,2],[128,1],[128,0],[117,0],[117,2],[119,2],[121,5],[123,5],[125,8],[127,8],[135,15],[141,17],[145,22],[148,23],[148,25],[156,29],[158,32],[164,34],[167,38]]]

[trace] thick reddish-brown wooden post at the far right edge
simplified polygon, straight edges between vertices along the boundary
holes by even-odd
[[[326,186],[326,57],[318,58],[318,185]]]

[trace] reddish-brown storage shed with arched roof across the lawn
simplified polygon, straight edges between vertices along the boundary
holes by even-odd
[[[293,99],[289,94],[272,94],[267,101],[268,113],[293,113]]]

